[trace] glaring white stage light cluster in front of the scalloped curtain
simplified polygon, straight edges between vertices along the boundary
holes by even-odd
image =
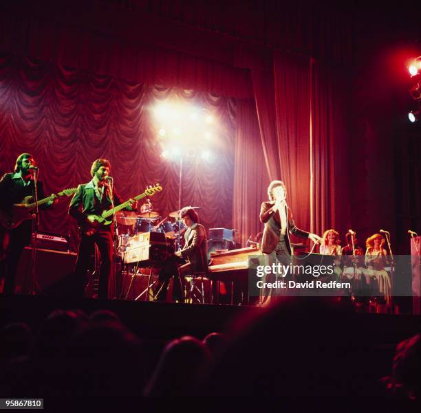
[[[211,113],[188,104],[162,102],[153,108],[153,118],[163,158],[186,156],[213,160],[210,148],[217,125]]]

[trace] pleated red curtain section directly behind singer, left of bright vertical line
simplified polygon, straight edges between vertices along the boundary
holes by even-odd
[[[296,225],[310,230],[309,59],[276,52],[272,72],[254,69],[252,80],[266,187],[274,179],[283,180]]]

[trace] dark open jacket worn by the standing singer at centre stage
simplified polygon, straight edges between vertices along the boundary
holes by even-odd
[[[273,212],[273,205],[273,202],[265,201],[261,203],[260,207],[260,221],[265,224],[261,241],[261,251],[264,254],[270,254],[274,251],[279,243],[279,236],[281,235],[281,217],[279,216],[279,211]],[[288,208],[287,231],[290,232],[290,234],[300,236],[301,238],[308,238],[309,236],[308,232],[300,230],[295,226],[290,208]],[[291,253],[288,236],[285,236],[285,243],[288,247],[288,251]]]

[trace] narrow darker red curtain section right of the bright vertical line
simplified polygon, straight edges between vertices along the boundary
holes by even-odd
[[[347,120],[347,84],[343,74],[312,59],[312,162],[314,232],[329,228],[345,234],[350,220],[352,168]],[[355,223],[354,223],[355,225]],[[345,241],[343,239],[342,241]]]

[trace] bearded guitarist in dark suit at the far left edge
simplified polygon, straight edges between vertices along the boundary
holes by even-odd
[[[13,204],[21,203],[28,195],[34,197],[34,173],[37,169],[34,157],[30,153],[19,155],[14,166],[14,172],[3,175],[0,181],[1,212],[9,214]],[[36,181],[36,192],[38,199],[45,198],[41,181]],[[39,208],[48,208],[56,200],[56,196],[52,194],[52,200]],[[23,248],[30,244],[31,233],[32,222],[28,219],[22,221],[14,230],[0,228],[1,272],[5,274],[4,295],[14,295],[17,265]]]

